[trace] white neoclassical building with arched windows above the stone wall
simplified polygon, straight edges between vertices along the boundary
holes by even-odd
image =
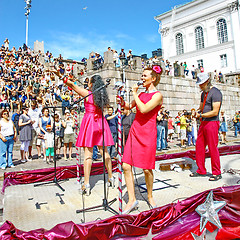
[[[156,16],[164,59],[240,72],[239,10],[239,1],[194,0]]]

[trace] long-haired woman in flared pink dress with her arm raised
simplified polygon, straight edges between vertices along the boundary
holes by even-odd
[[[56,73],[57,74],[57,73]],[[59,75],[59,74],[57,74]],[[86,90],[74,84],[73,81],[65,79],[64,83],[72,88],[73,91],[78,93],[81,97],[87,96],[89,93],[104,85],[102,78],[99,75],[94,75],[88,82]],[[98,146],[101,155],[103,155],[103,132],[102,132],[102,110],[101,105],[106,107],[109,103],[106,88],[103,88],[103,99],[100,91],[95,92],[93,95],[88,96],[84,100],[85,114],[82,119],[79,135],[77,138],[76,146],[84,148],[84,184],[82,186],[83,193],[90,195],[90,172],[92,166],[93,147]],[[112,162],[107,151],[107,146],[114,145],[112,134],[109,125],[104,118],[104,148],[105,150],[105,165],[108,171],[108,182],[114,187],[114,178],[112,175]]]

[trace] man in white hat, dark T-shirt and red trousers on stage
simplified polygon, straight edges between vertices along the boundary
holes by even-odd
[[[211,156],[212,175],[209,181],[218,181],[222,178],[220,156],[218,151],[219,112],[222,105],[222,93],[211,84],[207,73],[197,75],[197,84],[202,90],[199,112],[200,127],[196,142],[196,163],[198,169],[190,177],[206,176],[205,148],[208,146]]]

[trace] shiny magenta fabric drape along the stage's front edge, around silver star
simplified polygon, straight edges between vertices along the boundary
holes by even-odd
[[[141,212],[137,215],[116,215],[111,218],[75,224],[66,222],[51,230],[37,229],[24,232],[7,221],[0,227],[0,239],[57,240],[57,239],[144,239],[152,230],[153,240],[192,240],[191,232],[200,235],[200,216],[195,209],[205,202],[209,191],[199,193],[179,203]],[[240,238],[240,186],[220,187],[213,190],[214,201],[225,201],[226,206],[218,213],[222,229],[217,240]],[[214,231],[216,226],[207,223]]]

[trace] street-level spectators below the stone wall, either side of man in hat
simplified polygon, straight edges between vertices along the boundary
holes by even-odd
[[[173,138],[179,141],[178,145],[181,148],[195,146],[200,125],[199,119],[195,116],[194,108],[189,111],[179,111],[177,116],[173,117],[162,106],[157,116],[157,150],[167,150],[168,143],[173,142]],[[229,129],[234,131],[234,137],[240,134],[240,111],[236,111],[232,118],[227,116],[223,110],[220,112],[220,144],[227,143],[226,134]]]

